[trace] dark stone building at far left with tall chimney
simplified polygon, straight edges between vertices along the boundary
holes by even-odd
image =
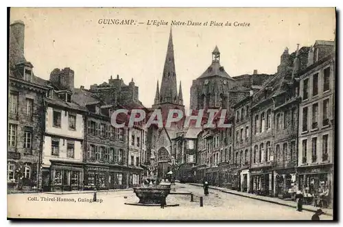
[[[40,189],[43,147],[43,99],[47,84],[25,59],[25,25],[10,25],[8,71],[8,190]]]

